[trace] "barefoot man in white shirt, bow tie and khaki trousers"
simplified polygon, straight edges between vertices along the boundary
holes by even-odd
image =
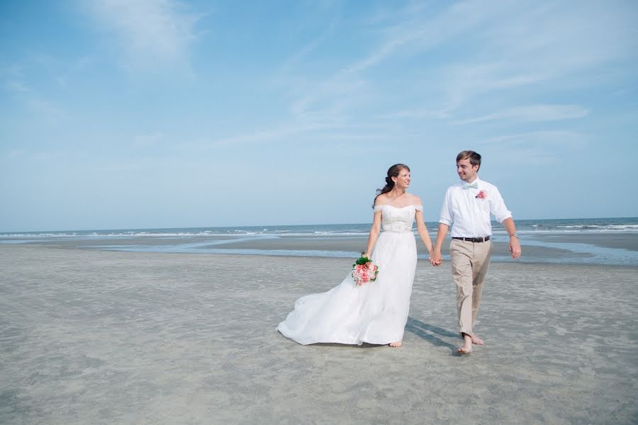
[[[509,234],[512,258],[520,257],[520,244],[512,213],[505,207],[498,188],[478,179],[480,168],[481,155],[476,152],[463,151],[457,155],[457,173],[462,182],[450,186],[445,193],[437,242],[430,256],[432,266],[441,265],[441,246],[452,226],[449,256],[452,276],[457,285],[459,332],[464,339],[464,344],[457,350],[459,354],[471,353],[472,344],[483,345],[483,340],[472,329],[476,323],[483,282],[492,254],[491,215],[496,217]]]

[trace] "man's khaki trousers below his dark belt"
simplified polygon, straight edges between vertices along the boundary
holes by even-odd
[[[457,312],[459,332],[474,335],[478,306],[481,305],[483,282],[490,266],[492,242],[469,242],[452,239],[449,256],[452,276],[457,285]]]

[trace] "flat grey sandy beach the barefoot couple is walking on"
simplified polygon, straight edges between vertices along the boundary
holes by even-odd
[[[494,263],[471,356],[449,263],[401,348],[275,331],[351,265],[0,245],[0,423],[637,423],[638,267]]]

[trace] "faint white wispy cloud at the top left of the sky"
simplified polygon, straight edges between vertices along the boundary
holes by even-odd
[[[89,11],[135,64],[185,60],[201,18],[172,0],[94,0]]]

